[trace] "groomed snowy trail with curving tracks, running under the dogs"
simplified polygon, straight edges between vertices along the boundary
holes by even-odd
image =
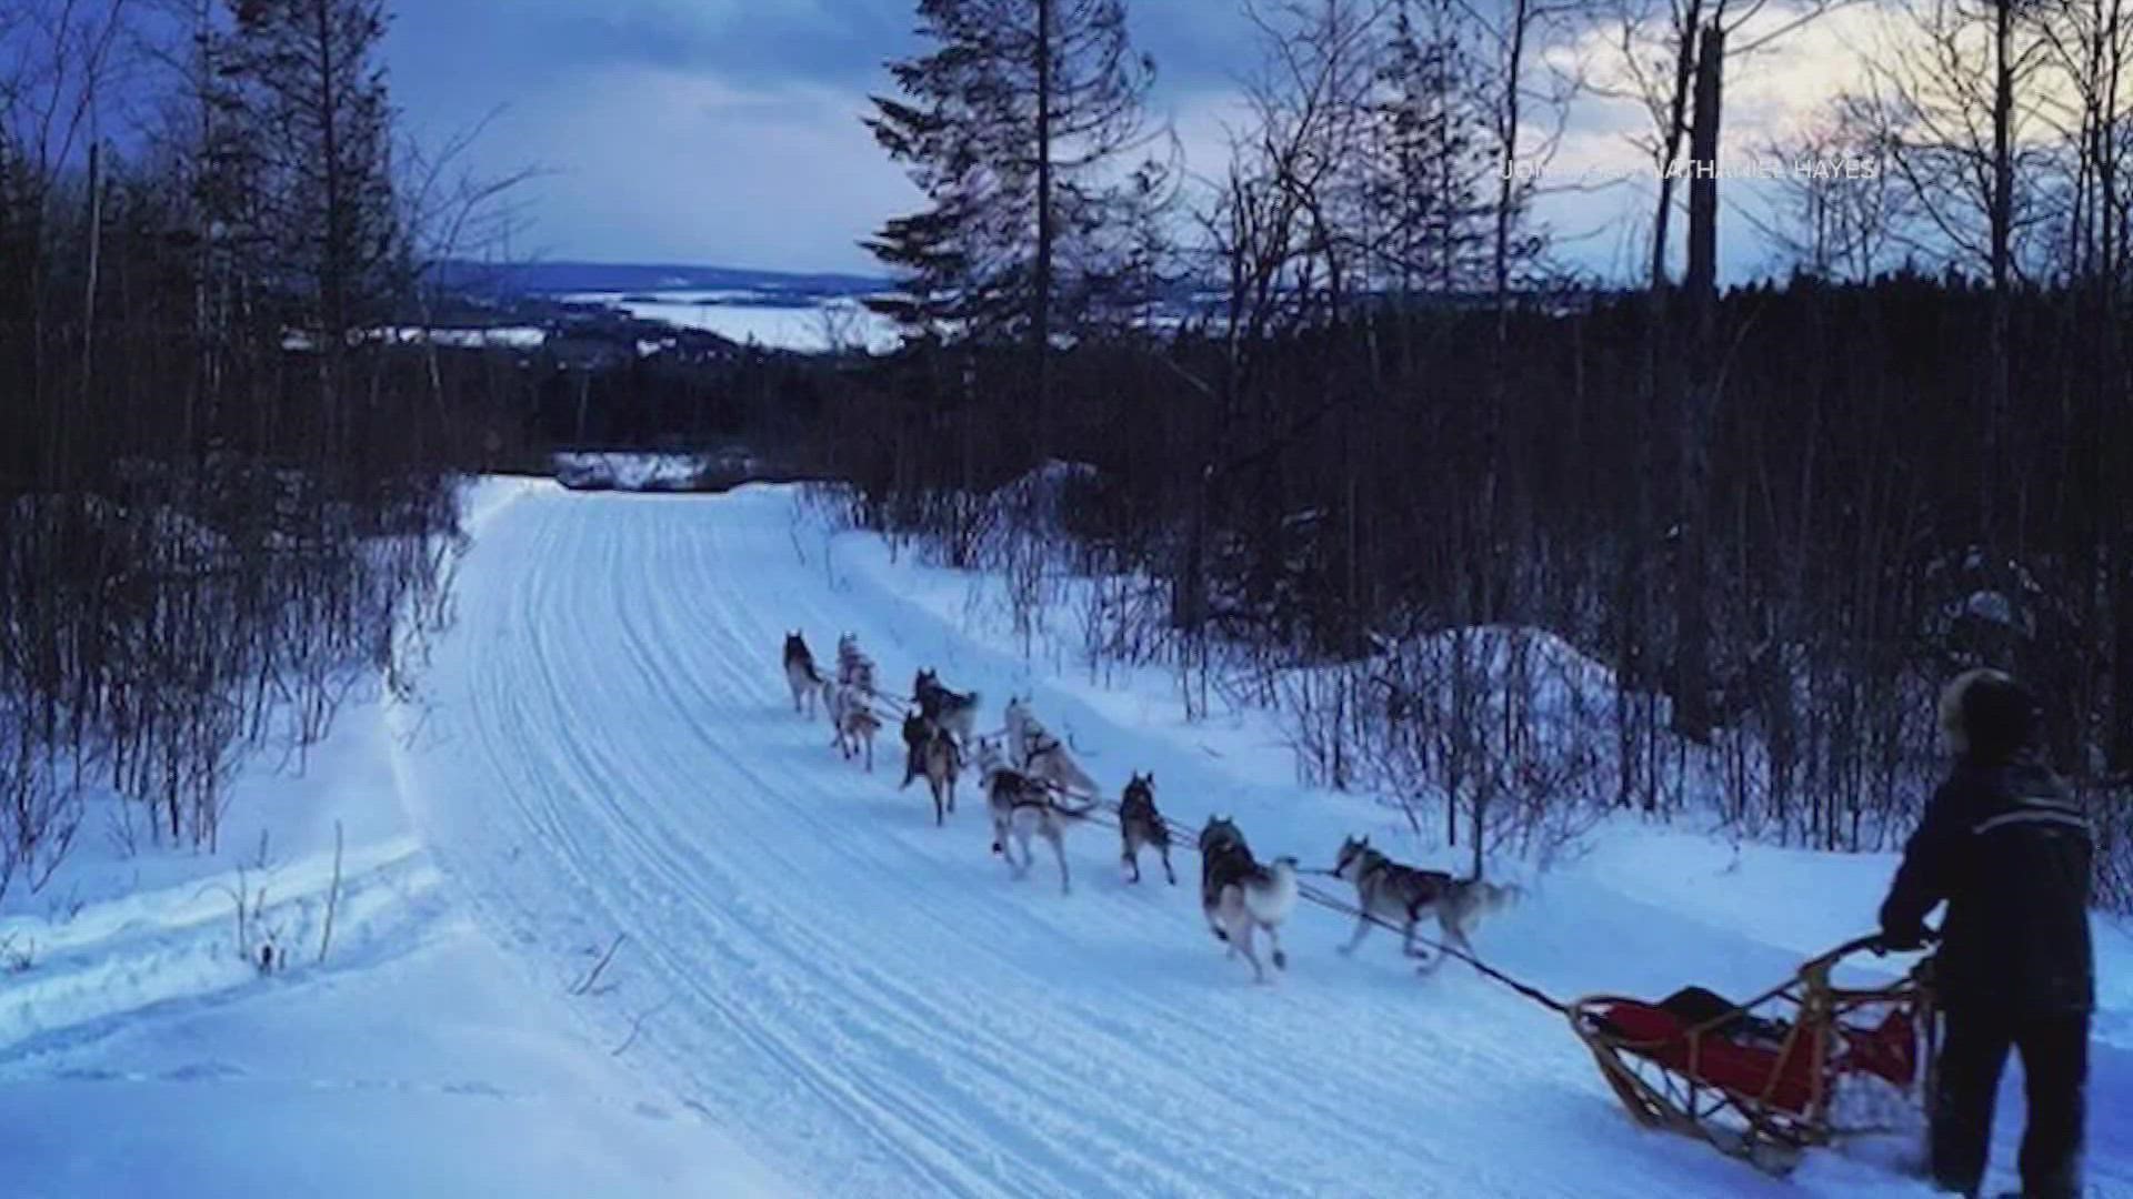
[[[619,1045],[802,1193],[828,1195],[1779,1195],[1709,1148],[1634,1131],[1561,1020],[1468,971],[1416,981],[1391,937],[1301,911],[1290,975],[1254,988],[1160,868],[1130,888],[1116,834],[988,856],[975,785],[932,826],[896,792],[894,728],[866,774],[791,713],[776,653],[843,629],[900,691],[917,666],[985,691],[1015,661],[964,642],[791,535],[791,495],[567,495],[484,514],[431,710],[403,713],[407,802],[439,866],[535,986],[567,990],[616,934],[589,1035]],[[1263,856],[1318,864],[1340,813],[1299,813],[1160,732],[1037,687],[1116,794],[1156,770],[1197,826],[1233,811]],[[1357,824],[1357,830],[1369,828]],[[1576,990],[1775,979],[1792,952],[1566,883],[1576,930],[1534,911],[1485,930],[1502,964]],[[1608,954],[1606,941],[1621,952]],[[1578,977],[1595,956],[1642,964]],[[1721,979],[1723,981],[1723,979]],[[1657,984],[1655,984],[1657,986]],[[1858,1193],[1849,1163],[1809,1173]],[[1894,1195],[1920,1195],[1890,1184]]]

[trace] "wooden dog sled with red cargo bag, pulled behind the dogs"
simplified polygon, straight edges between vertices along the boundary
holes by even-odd
[[[1839,945],[1747,1003],[1702,988],[1591,996],[1570,1026],[1638,1122],[1785,1173],[1811,1146],[1905,1129],[1930,1094],[1932,960],[1879,990],[1830,981],[1875,943]]]

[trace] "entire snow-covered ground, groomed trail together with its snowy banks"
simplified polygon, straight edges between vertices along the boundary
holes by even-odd
[[[1418,979],[1382,932],[1342,958],[1325,911],[1252,986],[1190,851],[1177,888],[1126,885],[1086,828],[1071,896],[1043,858],[1011,881],[975,789],[934,828],[894,730],[868,774],[793,715],[785,632],[823,657],[857,634],[892,689],[939,668],[983,725],[1032,693],[1111,794],[1154,770],[1173,819],[1235,815],[1261,856],[1457,856],[1299,794],[1263,713],[1186,723],[1160,676],[1032,670],[971,580],[828,535],[789,489],[497,482],[469,527],[416,702],[352,704],[303,777],[252,772],[220,858],[85,853],[79,911],[0,913],[43,943],[0,975],[0,1193],[1926,1195],[1890,1146],[1775,1182],[1638,1131],[1559,1016],[1461,964]],[[218,892],[256,858],[294,954],[273,977]],[[1563,996],[1745,994],[1862,930],[1890,866],[1630,824],[1476,941]],[[2090,1176],[2133,1195],[2133,945],[2099,945]]]

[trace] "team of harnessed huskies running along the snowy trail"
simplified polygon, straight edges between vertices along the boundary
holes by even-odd
[[[836,732],[832,742],[836,751],[847,760],[864,753],[866,770],[872,770],[875,734],[883,723],[875,704],[883,696],[875,687],[875,659],[860,651],[857,636],[838,638],[836,676],[823,678],[806,640],[798,632],[785,634],[785,681],[791,687],[793,713],[813,717],[819,700]],[[998,736],[979,736],[975,732],[979,693],[951,691],[932,670],[917,672],[911,700],[915,706],[902,717],[900,789],[926,779],[934,824],[947,824],[947,813],[956,811],[956,783],[964,764],[975,764],[992,819],[992,851],[1007,860],[1013,877],[1022,879],[1035,864],[1030,841],[1043,841],[1058,862],[1060,892],[1071,894],[1066,830],[1086,821],[1101,804],[1096,781],[1069,755],[1066,745],[1037,719],[1024,698],[1007,702],[1007,728]],[[966,757],[966,747],[973,742],[975,749]],[[1162,862],[1169,883],[1177,885],[1177,870],[1171,868],[1171,826],[1156,809],[1156,777],[1133,774],[1116,811],[1120,866],[1130,870],[1128,881],[1141,881],[1141,851],[1150,849]],[[1273,969],[1286,971],[1288,956],[1282,952],[1280,926],[1299,898],[1297,860],[1282,856],[1261,862],[1229,817],[1207,819],[1199,853],[1201,913],[1207,917],[1207,930],[1229,945],[1231,956],[1244,954],[1258,981],[1265,981],[1267,971],[1254,939],[1265,932]],[[1333,877],[1354,885],[1357,909],[1363,913],[1342,954],[1352,954],[1372,924],[1382,922],[1401,930],[1406,956],[1427,962],[1429,958],[1414,945],[1423,920],[1436,920],[1446,945],[1472,954],[1468,934],[1476,924],[1517,898],[1517,888],[1393,862],[1372,849],[1367,836],[1342,843]]]

